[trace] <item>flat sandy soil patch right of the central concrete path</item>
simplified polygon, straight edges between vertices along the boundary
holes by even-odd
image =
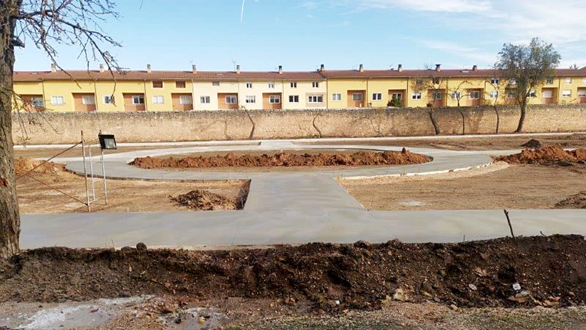
[[[586,190],[585,175],[586,165],[580,164],[496,164],[430,176],[340,183],[364,207],[372,210],[551,209],[560,200]]]

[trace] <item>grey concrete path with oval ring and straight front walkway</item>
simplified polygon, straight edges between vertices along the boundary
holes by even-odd
[[[331,141],[331,140],[330,140]],[[367,211],[346,193],[336,176],[415,175],[437,173],[492,162],[491,154],[515,151],[446,151],[410,148],[429,155],[432,162],[345,171],[301,172],[216,172],[139,169],[127,165],[136,157],[185,154],[203,151],[275,149],[380,149],[397,147],[364,145],[296,145],[290,140],[260,141],[257,145],[236,142],[122,152],[105,156],[111,178],[162,180],[251,179],[244,210],[216,212],[75,213],[23,215],[21,244],[40,246],[100,247],[127,246],[144,241],[149,246],[229,246],[307,243],[311,241],[352,242],[461,241],[502,237],[509,234],[501,210]],[[67,169],[83,173],[79,158]],[[98,173],[101,167],[94,168]],[[471,198],[481,198],[471,196]],[[511,210],[515,233],[520,235],[586,233],[584,210]],[[555,220],[554,220],[555,219]],[[112,243],[113,242],[113,243]]]

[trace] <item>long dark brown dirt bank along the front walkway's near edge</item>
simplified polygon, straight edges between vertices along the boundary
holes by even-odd
[[[578,235],[230,251],[46,247],[0,261],[0,302],[157,294],[268,298],[333,313],[393,300],[563,307],[586,303],[585,265],[586,241]]]

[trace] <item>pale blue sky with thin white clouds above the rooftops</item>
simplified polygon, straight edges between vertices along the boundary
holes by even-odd
[[[584,0],[119,0],[103,24],[123,47],[123,67],[154,70],[315,70],[490,67],[503,43],[554,43],[560,67],[586,66]],[[242,17],[242,21],[240,20]],[[16,70],[48,70],[27,40]],[[79,49],[59,46],[65,69],[84,69]],[[91,62],[97,68],[98,62]]]

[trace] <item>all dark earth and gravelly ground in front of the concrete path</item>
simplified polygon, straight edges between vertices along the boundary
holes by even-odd
[[[575,306],[586,303],[585,264],[586,241],[575,235],[233,251],[52,247],[0,262],[0,301],[9,309],[160,298],[96,329],[204,329],[221,319],[214,311],[227,315],[224,329],[583,329],[586,310]],[[199,328],[185,318],[197,307]]]

